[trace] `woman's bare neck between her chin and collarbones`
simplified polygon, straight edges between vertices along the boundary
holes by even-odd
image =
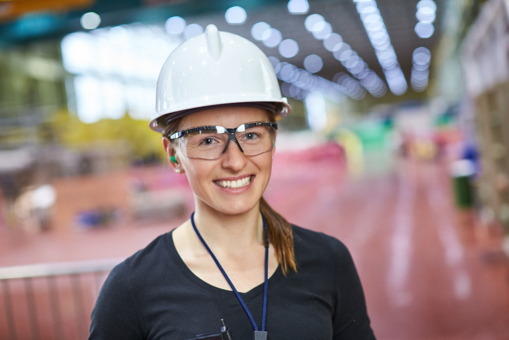
[[[238,252],[264,243],[260,203],[246,213],[229,215],[196,202],[194,224],[211,248]]]

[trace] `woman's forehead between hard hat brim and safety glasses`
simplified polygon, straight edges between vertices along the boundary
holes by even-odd
[[[195,112],[186,116],[179,129],[185,130],[187,128],[204,125],[218,125],[227,128],[234,128],[244,123],[266,121],[268,119],[269,117],[267,113],[259,108],[214,108]]]

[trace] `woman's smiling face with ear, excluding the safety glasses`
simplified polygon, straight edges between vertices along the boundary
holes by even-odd
[[[244,123],[268,120],[267,113],[258,108],[217,108],[186,116],[179,131],[206,125],[236,128]],[[206,204],[221,213],[236,215],[257,206],[270,179],[274,148],[256,156],[246,156],[237,143],[232,142],[221,158],[203,160],[186,158],[179,143],[172,145],[165,139],[164,147],[168,159],[175,154],[178,164],[173,166],[186,173],[197,207]]]

